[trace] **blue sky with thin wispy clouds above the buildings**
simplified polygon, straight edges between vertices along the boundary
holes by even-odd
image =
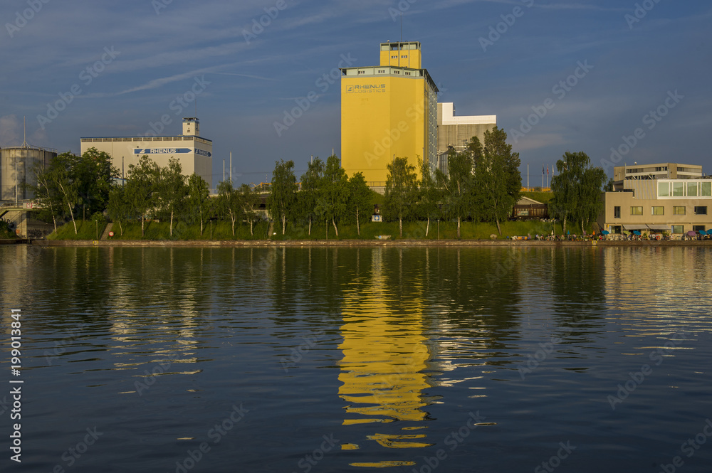
[[[23,116],[28,142],[60,152],[151,132],[162,115],[162,134],[179,134],[197,91],[214,182],[230,152],[236,184],[269,179],[278,159],[300,174],[311,155],[340,154],[340,88],[318,81],[342,55],[377,64],[401,11],[439,100],[497,115],[524,184],[526,164],[535,186],[564,152],[608,166],[612,148],[618,164],[712,172],[712,4],[701,0],[2,0],[0,146],[21,144]],[[310,92],[318,100],[278,135]]]

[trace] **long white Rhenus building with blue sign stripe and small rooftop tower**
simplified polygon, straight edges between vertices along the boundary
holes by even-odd
[[[109,154],[119,169],[121,179],[126,179],[129,166],[138,164],[147,155],[161,167],[177,158],[183,174],[197,174],[213,188],[213,142],[200,137],[197,118],[183,119],[183,134],[176,137],[86,137],[81,139],[81,152],[96,148]]]

